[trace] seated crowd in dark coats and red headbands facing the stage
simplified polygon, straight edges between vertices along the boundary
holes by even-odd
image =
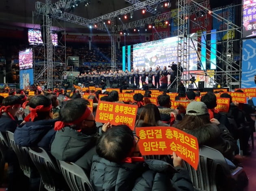
[[[40,89],[30,91],[22,89],[2,89],[9,93],[6,98],[0,96],[1,115],[0,132],[6,137],[6,131],[14,133],[15,143],[28,147],[41,147],[56,160],[74,162],[80,166],[95,191],[100,190],[186,190],[193,191],[189,172],[183,168],[182,159],[173,153],[154,156],[148,159],[142,156],[138,147],[139,137],[126,125],[113,125],[110,122],[100,124],[95,121],[98,101],[135,104],[138,106],[135,129],[140,127],[165,126],[176,127],[195,136],[199,146],[206,145],[221,152],[230,169],[241,166],[235,155],[239,153],[236,140],[240,139],[244,155],[250,155],[248,139],[254,131],[254,123],[249,116],[254,104],[249,98],[248,104],[232,102],[232,97],[222,93],[222,98],[230,98],[228,113],[219,112],[216,96],[208,92],[195,101],[200,92],[180,91],[175,98],[186,97],[190,102],[185,113],[181,108],[173,109],[167,91],[157,97],[158,104],[152,104],[150,90],[145,95],[135,93],[134,101],[119,101],[117,91],[74,89]],[[33,96],[29,95],[34,91]],[[127,90],[123,90],[126,92]],[[237,90],[241,91],[241,90]],[[131,93],[130,91],[127,91]],[[88,100],[81,94],[89,93],[93,100],[90,110]],[[216,93],[216,92],[215,92]],[[99,98],[100,94],[104,94]],[[143,98],[145,101],[143,101]],[[238,128],[230,122],[232,119]],[[97,127],[98,124],[98,127]],[[15,153],[7,150],[6,162],[9,167],[8,190],[18,190],[20,186],[38,189],[40,174],[34,169],[30,181],[24,179]],[[156,160],[157,159],[157,160]],[[221,176],[217,182],[218,190],[233,190],[228,184],[230,177]],[[241,178],[242,179],[242,178]],[[247,180],[247,177],[243,178]],[[219,179],[218,179],[219,180]],[[26,185],[27,184],[27,185]],[[247,184],[245,181],[241,187]],[[62,186],[64,186],[63,184]],[[67,189],[67,188],[62,188]],[[236,187],[236,190],[241,188]]]

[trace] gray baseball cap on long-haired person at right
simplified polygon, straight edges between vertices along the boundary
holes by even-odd
[[[207,106],[204,102],[191,102],[187,106],[186,115],[204,115],[208,113]]]

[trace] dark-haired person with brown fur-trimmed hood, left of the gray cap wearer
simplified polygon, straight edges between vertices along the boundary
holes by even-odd
[[[177,119],[178,111],[171,109],[171,98],[167,94],[162,94],[157,97],[158,109],[160,112],[161,120],[166,123],[173,124]]]

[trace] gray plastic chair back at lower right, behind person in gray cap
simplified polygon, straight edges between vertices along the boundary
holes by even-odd
[[[231,176],[229,167],[223,155],[208,146],[200,147],[200,161],[197,170],[188,163],[183,162],[184,168],[189,171],[191,181],[196,190],[217,191],[221,187],[220,176]],[[222,185],[222,183],[221,183]]]

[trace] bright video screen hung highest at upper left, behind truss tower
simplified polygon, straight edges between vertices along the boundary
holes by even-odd
[[[58,35],[51,34],[51,37],[52,37],[52,44],[54,46],[57,46],[58,45]],[[28,29],[28,42],[30,45],[43,44],[41,30]]]

